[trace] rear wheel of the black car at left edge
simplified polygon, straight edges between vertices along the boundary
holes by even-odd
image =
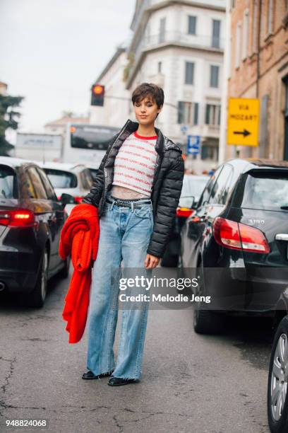
[[[27,302],[25,304],[28,306],[41,308],[44,305],[47,295],[48,260],[48,251],[45,248],[35,289],[26,296]]]

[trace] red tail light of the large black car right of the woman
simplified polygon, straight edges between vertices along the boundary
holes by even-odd
[[[269,253],[270,247],[262,231],[246,224],[217,217],[213,222],[213,235],[220,245],[251,253]]]

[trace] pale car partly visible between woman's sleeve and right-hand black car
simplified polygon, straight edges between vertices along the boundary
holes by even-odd
[[[160,260],[161,266],[175,267],[178,264],[179,253],[181,250],[181,229],[184,226],[186,218],[193,212],[191,206],[197,204],[208,179],[209,176],[207,175],[184,175],[181,196],[179,205],[176,209],[176,217],[172,233],[164,255]]]

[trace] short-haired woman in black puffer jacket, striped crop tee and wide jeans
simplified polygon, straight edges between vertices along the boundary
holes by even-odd
[[[113,137],[83,200],[98,208],[100,239],[88,312],[88,372],[82,377],[112,376],[110,386],[140,379],[149,307],[145,302],[141,308],[123,310],[115,364],[119,284],[112,279],[122,260],[124,269],[152,272],[158,265],[184,177],[180,147],[155,127],[164,103],[162,88],[142,83],[133,91],[132,103],[138,122],[128,120]]]

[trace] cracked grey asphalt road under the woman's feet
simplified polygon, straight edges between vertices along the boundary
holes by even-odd
[[[53,279],[44,308],[0,299],[0,431],[265,433],[272,333],[233,319],[221,336],[193,332],[193,311],[150,309],[140,383],[83,381],[87,333],[68,345],[68,281]],[[119,326],[116,330],[116,345]],[[8,428],[6,420],[47,420]]]

